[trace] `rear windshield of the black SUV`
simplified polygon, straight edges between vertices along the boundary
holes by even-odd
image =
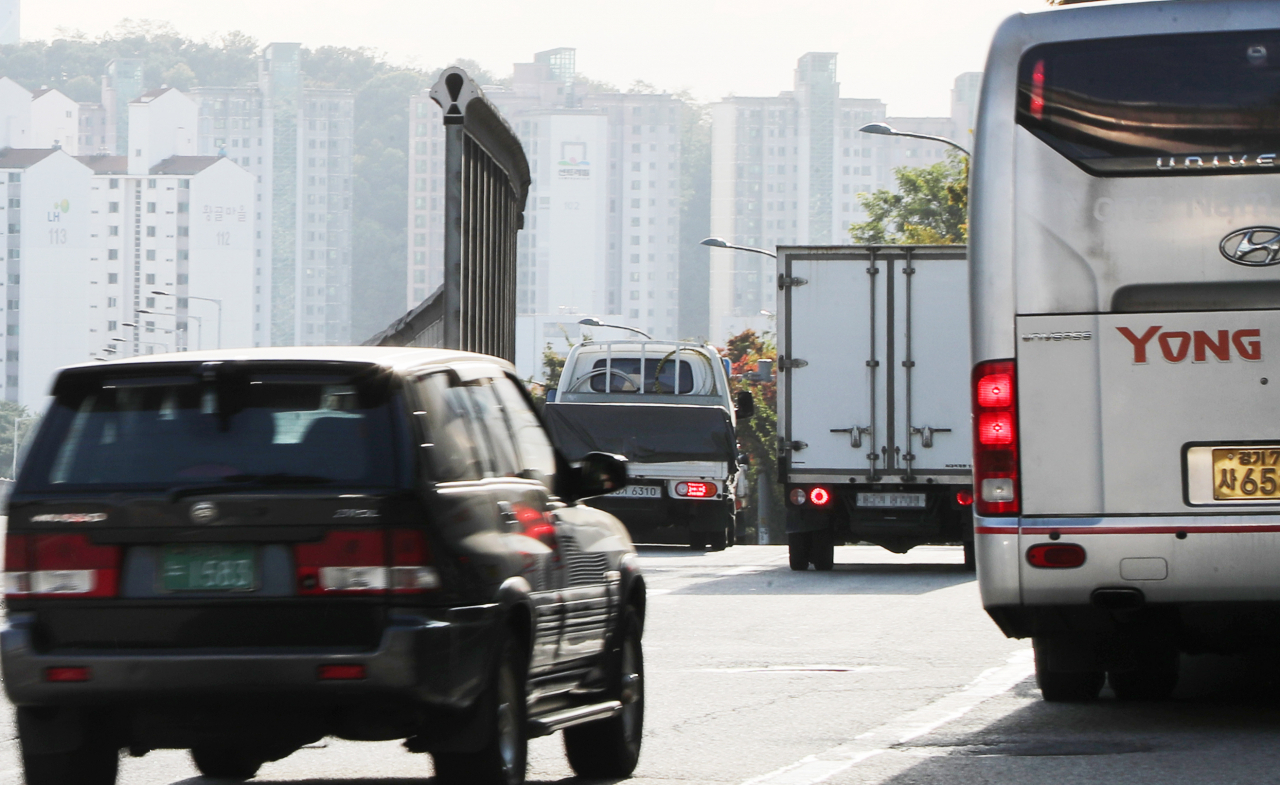
[[[393,482],[389,405],[356,384],[113,382],[59,396],[24,485]]]

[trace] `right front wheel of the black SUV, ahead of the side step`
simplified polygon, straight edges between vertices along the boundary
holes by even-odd
[[[622,617],[622,642],[614,654],[614,684],[622,713],[608,720],[564,729],[564,754],[580,777],[630,777],[640,761],[644,736],[644,649],[640,645],[640,615],[627,607]]]

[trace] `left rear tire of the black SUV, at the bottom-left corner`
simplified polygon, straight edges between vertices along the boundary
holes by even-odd
[[[18,708],[18,745],[27,785],[114,785],[120,750],[102,736],[99,724],[83,720],[77,721],[79,744],[59,744],[56,736],[45,735],[47,731],[41,727],[61,725],[42,716],[58,711],[70,709]]]

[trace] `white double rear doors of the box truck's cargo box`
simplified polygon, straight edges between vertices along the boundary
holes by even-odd
[[[788,247],[778,273],[791,479],[968,476],[965,248]]]

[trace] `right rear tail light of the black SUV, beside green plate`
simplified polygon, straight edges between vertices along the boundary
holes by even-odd
[[[388,546],[390,548],[388,549]],[[298,594],[429,592],[440,585],[421,531],[329,531],[319,543],[294,546]]]

